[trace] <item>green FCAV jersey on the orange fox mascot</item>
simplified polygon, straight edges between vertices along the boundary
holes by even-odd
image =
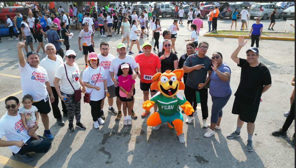
[[[178,106],[181,106],[187,101],[179,93],[176,93],[173,97],[166,97],[161,92],[157,92],[150,100],[157,104],[159,108],[158,112],[166,117],[179,112]]]

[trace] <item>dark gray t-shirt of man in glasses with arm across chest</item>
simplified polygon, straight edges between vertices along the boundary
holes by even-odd
[[[202,68],[200,70],[194,69],[187,75],[187,80],[185,84],[190,88],[197,89],[199,83],[205,83],[205,81],[207,80],[208,71],[213,71],[211,67],[213,65],[213,62],[208,56],[200,58],[197,56],[197,54],[192,54],[188,56],[184,62],[184,65],[189,67],[199,64],[204,64],[203,66],[205,66],[205,68]]]

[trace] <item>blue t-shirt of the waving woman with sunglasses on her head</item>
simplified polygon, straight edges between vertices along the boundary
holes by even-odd
[[[227,66],[225,63],[221,64],[218,67],[218,70],[222,73],[229,72],[231,74],[231,70],[229,66]],[[230,88],[230,78],[228,81],[223,81],[220,79],[220,77],[217,75],[217,72],[213,71],[210,76],[210,95],[215,97],[226,97],[229,94],[231,94],[231,88]]]

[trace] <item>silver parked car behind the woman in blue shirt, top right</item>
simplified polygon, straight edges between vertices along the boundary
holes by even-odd
[[[275,7],[278,8],[276,12],[276,17],[281,19],[283,9],[278,7],[276,4],[271,4],[271,3],[253,4],[251,7],[250,18],[253,19],[254,17],[260,17],[263,20],[265,20],[269,18],[271,12],[274,10]]]

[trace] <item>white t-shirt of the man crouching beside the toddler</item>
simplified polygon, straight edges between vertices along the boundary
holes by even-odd
[[[22,124],[22,117],[20,113],[16,116],[8,115],[7,112],[0,119],[0,138],[6,137],[7,141],[21,141],[27,142],[31,137],[28,131],[25,130]],[[21,148],[16,145],[8,146],[13,153],[18,153]]]

